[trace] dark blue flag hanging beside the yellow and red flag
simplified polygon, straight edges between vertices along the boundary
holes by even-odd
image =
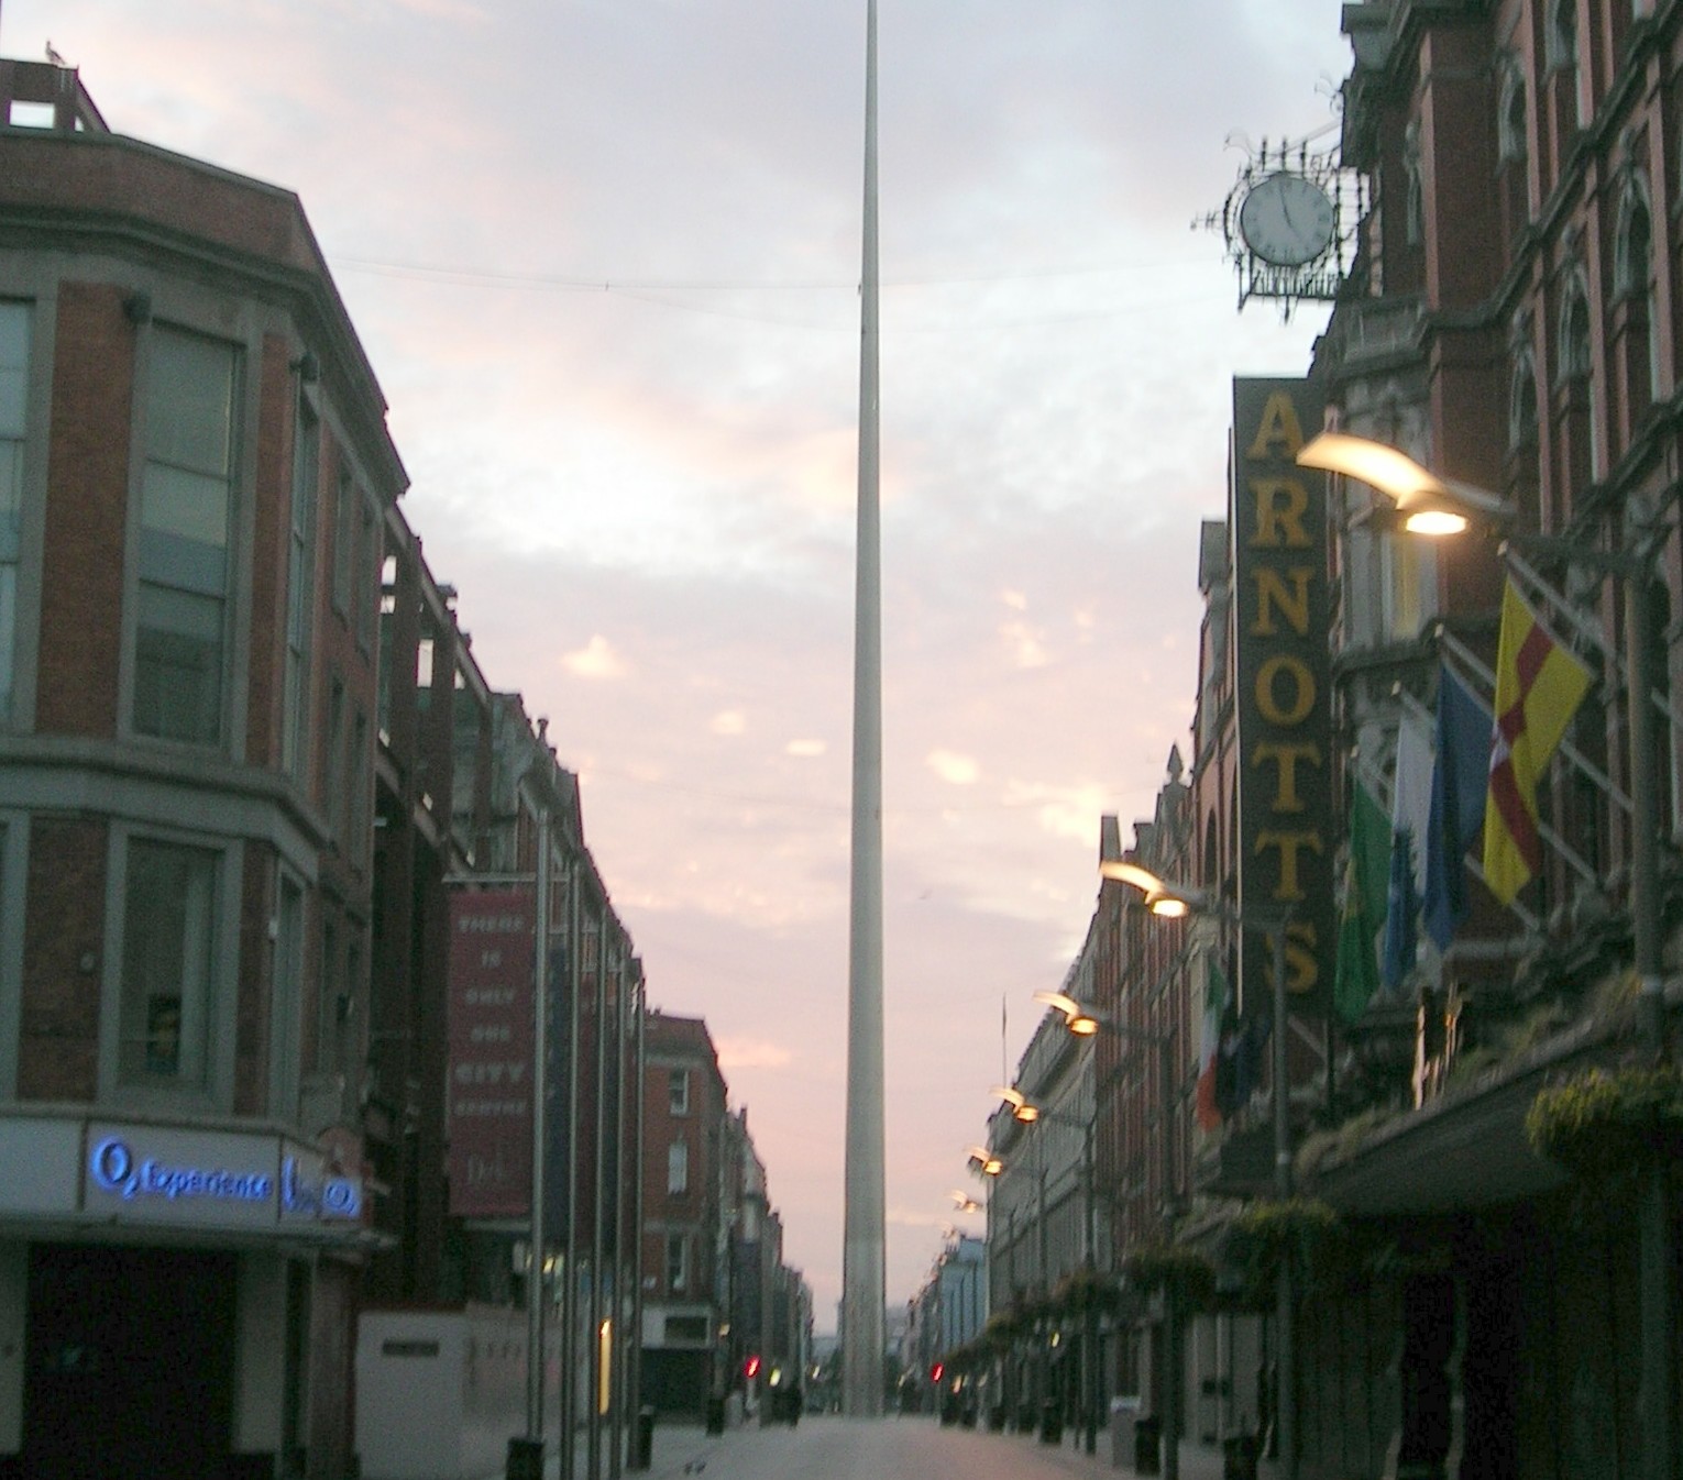
[[[1426,824],[1426,933],[1439,950],[1449,950],[1473,908],[1466,854],[1484,826],[1488,782],[1489,713],[1446,663],[1437,673],[1437,760]]]

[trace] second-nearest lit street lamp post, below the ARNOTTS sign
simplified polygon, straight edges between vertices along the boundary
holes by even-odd
[[[1175,883],[1160,878],[1138,863],[1121,858],[1101,858],[1099,873],[1104,878],[1131,885],[1144,895],[1146,908],[1153,915],[1175,920],[1183,915],[1213,915],[1227,920],[1240,930],[1264,930],[1274,937],[1274,1196],[1281,1201],[1291,1197],[1291,1086],[1286,1080],[1286,932],[1291,925],[1291,906],[1261,918],[1254,913],[1240,913],[1205,890],[1192,885]],[[1070,1019],[1075,1028],[1075,1019]],[[1291,1260],[1281,1260],[1277,1283],[1276,1312],[1276,1377],[1274,1377],[1274,1411],[1277,1414],[1279,1433],[1279,1475],[1281,1480],[1298,1480],[1298,1389],[1296,1389],[1296,1340],[1294,1312],[1291,1288]],[[1166,1438],[1170,1438],[1166,1435]],[[1173,1453],[1170,1446],[1168,1453]],[[1165,1472],[1168,1473],[1168,1472]]]

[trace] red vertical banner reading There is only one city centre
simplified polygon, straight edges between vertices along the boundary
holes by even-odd
[[[449,901],[449,1211],[525,1218],[532,1204],[530,890]]]

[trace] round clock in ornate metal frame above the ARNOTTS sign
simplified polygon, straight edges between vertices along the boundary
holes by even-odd
[[[1298,303],[1338,298],[1355,259],[1362,180],[1335,153],[1311,155],[1306,143],[1271,150],[1264,140],[1220,212],[1195,225],[1220,229],[1239,276],[1239,306],[1271,298],[1281,316]]]

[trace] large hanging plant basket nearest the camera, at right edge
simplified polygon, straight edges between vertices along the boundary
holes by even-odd
[[[1525,1115],[1532,1149],[1572,1176],[1604,1182],[1683,1157],[1676,1070],[1589,1070],[1540,1090]]]

